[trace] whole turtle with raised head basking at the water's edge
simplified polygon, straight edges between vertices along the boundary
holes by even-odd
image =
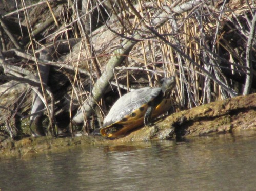
[[[119,98],[103,122],[102,136],[119,138],[143,124],[151,125],[152,118],[170,109],[170,94],[175,85],[172,76],[164,80],[162,87],[136,89]]]

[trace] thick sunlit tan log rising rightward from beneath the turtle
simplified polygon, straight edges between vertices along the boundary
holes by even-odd
[[[173,113],[115,142],[180,139],[256,128],[256,93]]]

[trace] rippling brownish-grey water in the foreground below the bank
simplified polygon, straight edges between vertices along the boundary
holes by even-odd
[[[1,159],[0,190],[255,190],[256,131]]]

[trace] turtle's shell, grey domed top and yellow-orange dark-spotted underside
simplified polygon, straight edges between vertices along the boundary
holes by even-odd
[[[149,106],[154,104],[155,98],[160,95],[162,89],[141,88],[131,91],[119,100],[110,109],[106,116],[101,134],[103,136],[117,138],[128,131],[144,124],[144,116]],[[170,99],[163,99],[154,108],[152,117],[159,116],[170,108]]]

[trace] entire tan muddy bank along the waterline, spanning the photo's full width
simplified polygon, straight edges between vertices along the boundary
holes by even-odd
[[[10,138],[0,142],[1,157],[24,156],[31,153],[54,152],[77,145],[125,144],[131,141],[181,140],[189,136],[256,129],[256,94],[212,102],[190,110],[171,114],[115,140],[101,136],[52,138],[27,137],[19,141]]]

